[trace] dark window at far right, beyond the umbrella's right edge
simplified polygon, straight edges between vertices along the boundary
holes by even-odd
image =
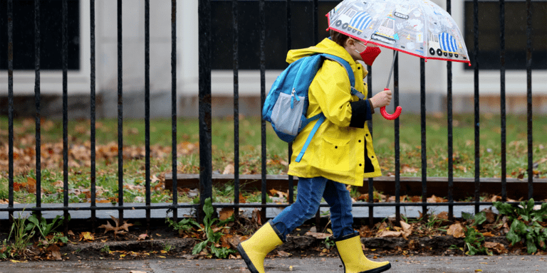
[[[532,69],[547,69],[547,1],[532,1]],[[473,2],[465,2],[465,44],[473,58]],[[526,1],[505,2],[505,68],[526,69]],[[498,1],[479,2],[479,68],[499,70],[500,17]],[[464,65],[465,69],[473,67]]]

